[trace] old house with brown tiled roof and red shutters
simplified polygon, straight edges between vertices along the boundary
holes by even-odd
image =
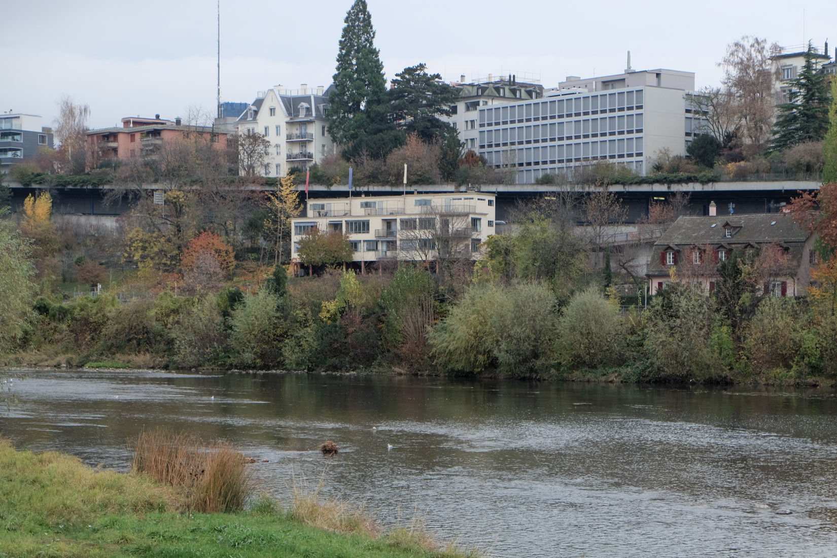
[[[764,252],[768,249],[769,253]],[[710,293],[718,265],[735,250],[761,258],[766,270],[763,294],[805,294],[811,264],[817,258],[814,237],[799,228],[788,213],[678,218],[654,244],[645,274],[650,294],[665,288],[671,269],[679,280],[699,284]]]

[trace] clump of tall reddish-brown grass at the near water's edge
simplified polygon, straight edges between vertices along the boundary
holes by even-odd
[[[230,443],[159,428],[137,438],[133,471],[182,489],[186,508],[202,513],[244,509],[254,488],[244,455]]]

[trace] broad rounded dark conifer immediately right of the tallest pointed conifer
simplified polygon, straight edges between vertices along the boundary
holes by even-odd
[[[425,64],[404,68],[395,74],[393,87],[388,91],[398,130],[417,133],[422,141],[441,140],[453,126],[439,116],[449,116],[450,107],[459,99],[459,91],[442,82],[439,74],[428,74]]]

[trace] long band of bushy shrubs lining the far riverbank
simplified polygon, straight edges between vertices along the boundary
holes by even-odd
[[[395,371],[596,381],[830,384],[837,316],[829,291],[757,296],[747,261],[721,265],[711,296],[675,281],[627,312],[590,280],[473,280],[458,292],[422,269],[393,276],[284,269],[249,293],[223,289],[121,304],[36,300],[29,352],[8,365]],[[37,348],[37,351],[31,351]]]

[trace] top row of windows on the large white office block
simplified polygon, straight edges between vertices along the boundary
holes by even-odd
[[[643,98],[643,90],[633,90],[480,109],[480,128],[492,125],[492,123],[493,125],[507,125],[515,122],[556,120],[575,116],[640,110],[643,108]]]

